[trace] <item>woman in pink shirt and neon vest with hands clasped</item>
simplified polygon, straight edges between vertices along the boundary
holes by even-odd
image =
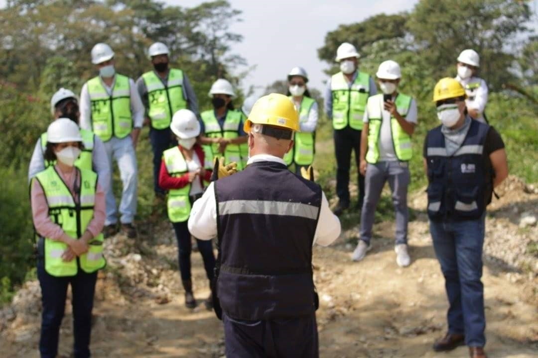
[[[82,137],[68,118],[47,129],[45,160],[55,162],[32,178],[33,224],[38,236],[37,276],[41,286],[42,357],[58,354],[58,337],[71,285],[74,354],[89,357],[91,310],[97,271],[105,266],[103,235],[105,198],[97,174],[75,166]]]

